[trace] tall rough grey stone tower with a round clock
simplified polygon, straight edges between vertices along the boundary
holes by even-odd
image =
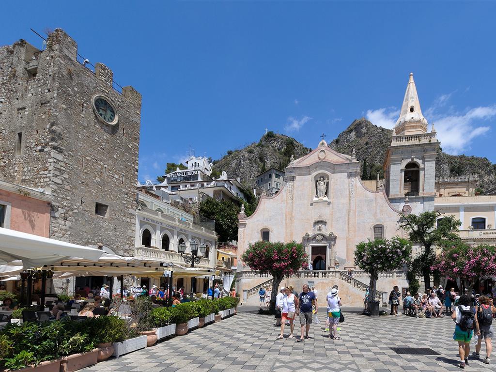
[[[141,95],[77,58],[61,29],[0,48],[0,179],[54,195],[52,238],[132,255]]]

